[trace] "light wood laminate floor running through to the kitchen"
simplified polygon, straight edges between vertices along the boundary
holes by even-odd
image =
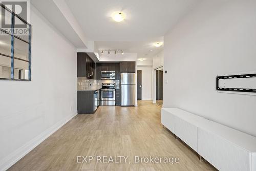
[[[160,106],[100,106],[77,115],[9,170],[216,170],[162,127]],[[131,163],[77,163],[77,156],[129,156]],[[134,156],[179,157],[180,162],[134,163]]]

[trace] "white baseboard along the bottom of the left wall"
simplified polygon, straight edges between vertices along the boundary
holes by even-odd
[[[37,145],[39,145],[42,141],[51,136],[55,131],[57,131],[61,126],[65,125],[69,120],[71,120],[77,113],[72,113],[66,118],[63,118],[59,122],[55,123],[53,126],[49,127],[46,131],[42,132],[23,146],[19,147],[16,151],[6,156],[4,159],[0,161],[0,170],[4,171],[10,168],[13,164],[15,164],[18,160],[23,158],[26,154],[28,154],[32,149],[34,149]]]

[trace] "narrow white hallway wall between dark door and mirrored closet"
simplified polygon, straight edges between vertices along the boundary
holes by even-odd
[[[152,66],[137,66],[142,70],[142,100],[152,100]]]

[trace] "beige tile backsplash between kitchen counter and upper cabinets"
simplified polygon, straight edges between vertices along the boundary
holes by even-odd
[[[102,83],[116,83],[116,89],[119,89],[119,80],[77,78],[77,90],[101,89]]]

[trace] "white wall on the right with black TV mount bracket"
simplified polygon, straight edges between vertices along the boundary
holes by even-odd
[[[256,71],[256,1],[202,1],[164,36],[165,107],[256,136],[256,96],[218,93],[217,74]]]

